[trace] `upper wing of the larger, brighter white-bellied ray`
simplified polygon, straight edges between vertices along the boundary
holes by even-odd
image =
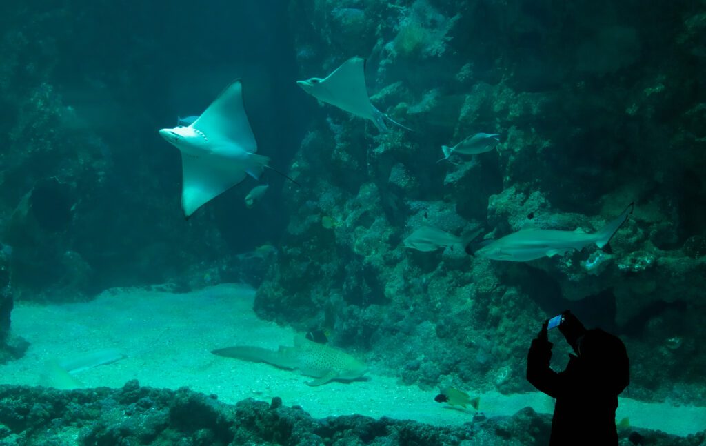
[[[234,80],[191,124],[210,141],[227,140],[246,152],[258,151],[243,104],[243,83]]]

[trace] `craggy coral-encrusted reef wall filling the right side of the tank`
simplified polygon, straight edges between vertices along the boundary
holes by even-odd
[[[631,397],[706,402],[706,21],[695,3],[289,8],[300,78],[364,56],[373,104],[415,132],[380,134],[327,104],[314,112],[260,315],[366,346],[403,382],[516,392],[529,389],[524,358],[542,320],[571,308],[625,339]],[[441,145],[479,132],[500,134],[496,151],[437,163]],[[401,246],[423,225],[489,238],[528,225],[596,231],[631,202],[612,253],[510,263]]]

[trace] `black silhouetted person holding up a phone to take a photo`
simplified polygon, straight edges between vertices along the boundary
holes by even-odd
[[[556,399],[549,445],[617,445],[618,394],[630,382],[625,344],[599,328],[586,330],[567,310],[558,328],[576,355],[570,354],[566,369],[557,373],[549,368],[548,322],[532,340],[527,380]]]

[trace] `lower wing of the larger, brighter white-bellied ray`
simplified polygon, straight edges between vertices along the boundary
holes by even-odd
[[[194,157],[181,152],[181,166],[184,174],[181,208],[186,218],[247,176],[238,162],[222,157]]]

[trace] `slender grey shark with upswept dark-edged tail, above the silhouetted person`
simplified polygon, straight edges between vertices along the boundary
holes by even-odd
[[[581,250],[592,244],[605,248],[616,231],[623,226],[628,215],[633,213],[635,203],[630,203],[619,217],[602,229],[586,234],[580,229],[561,231],[558,229],[525,228],[497,240],[486,241],[474,255],[491,260],[527,262],[542,257],[565,255],[570,251]]]

